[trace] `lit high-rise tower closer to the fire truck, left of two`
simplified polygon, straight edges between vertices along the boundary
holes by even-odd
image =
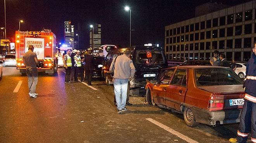
[[[74,49],[74,26],[71,25],[71,21],[64,22],[64,38],[65,44]]]

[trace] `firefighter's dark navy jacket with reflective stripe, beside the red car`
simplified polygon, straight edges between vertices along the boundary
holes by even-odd
[[[256,76],[256,56],[253,53],[246,66],[246,76]],[[246,79],[245,92],[253,97],[256,97],[256,80]]]

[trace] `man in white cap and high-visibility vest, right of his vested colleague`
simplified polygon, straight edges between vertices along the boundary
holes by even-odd
[[[81,56],[80,56],[80,51],[77,50],[76,51],[76,55],[74,56],[74,61],[75,61],[75,73],[74,73],[74,81],[78,82],[77,76],[78,76],[78,72],[80,72],[81,75],[81,82],[83,81],[83,68],[82,68],[82,64],[81,61],[83,61],[83,59],[81,60]]]

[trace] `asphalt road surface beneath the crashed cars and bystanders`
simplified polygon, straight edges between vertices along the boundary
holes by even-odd
[[[138,96],[130,97],[134,106],[118,114],[113,86],[97,78],[92,87],[65,84],[64,76],[62,69],[52,76],[39,74],[38,97],[30,98],[27,77],[15,67],[3,68],[0,143],[228,143],[238,128],[238,124],[191,128],[182,114],[149,106]]]

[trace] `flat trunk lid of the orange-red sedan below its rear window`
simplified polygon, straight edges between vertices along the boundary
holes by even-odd
[[[197,88],[203,89],[212,93],[244,92],[243,85],[199,86]]]

